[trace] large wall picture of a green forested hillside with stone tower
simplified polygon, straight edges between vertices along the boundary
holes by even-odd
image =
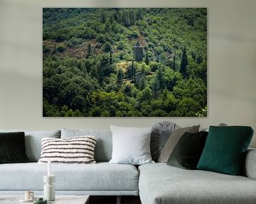
[[[206,117],[206,8],[43,8],[43,116]]]

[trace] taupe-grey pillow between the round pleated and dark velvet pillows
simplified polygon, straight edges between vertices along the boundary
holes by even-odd
[[[185,132],[196,133],[199,130],[200,125],[195,125],[187,128],[178,128],[174,130],[166,144],[164,145],[164,149],[161,151],[158,161],[161,163],[166,163],[171,155],[171,152],[174,150],[175,145],[178,143],[178,140]]]

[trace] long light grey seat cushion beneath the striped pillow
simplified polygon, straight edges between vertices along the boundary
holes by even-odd
[[[52,164],[56,191],[138,191],[137,168],[126,164]],[[43,191],[47,164],[1,164],[0,191]]]

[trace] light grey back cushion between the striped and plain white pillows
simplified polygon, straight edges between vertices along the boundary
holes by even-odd
[[[96,162],[109,162],[112,158],[112,132],[110,130],[73,130],[61,129],[61,138],[93,135],[96,137]]]

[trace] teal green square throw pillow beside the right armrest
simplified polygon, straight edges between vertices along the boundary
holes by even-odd
[[[240,175],[253,132],[248,126],[210,126],[197,169]]]

